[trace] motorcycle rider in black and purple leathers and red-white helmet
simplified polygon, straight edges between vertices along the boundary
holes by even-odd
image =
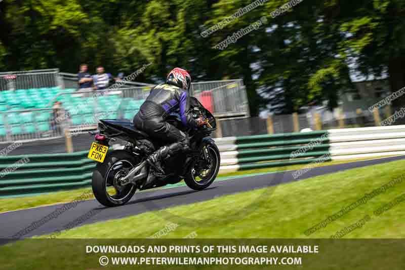
[[[193,119],[189,110],[190,86],[190,74],[182,68],[174,68],[169,72],[165,84],[157,85],[150,90],[149,96],[135,114],[133,122],[136,129],[167,144],[157,149],[147,159],[149,165],[155,168],[156,176],[165,175],[161,161],[189,149],[188,136],[165,119],[171,113],[177,112],[187,127],[196,128],[205,123],[201,118]],[[151,177],[148,177],[146,185],[151,181],[153,181]]]

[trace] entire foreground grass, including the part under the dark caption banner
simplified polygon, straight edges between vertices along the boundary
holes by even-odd
[[[361,199],[389,181],[404,174],[405,161],[358,168],[344,172],[310,178],[298,182],[263,188],[235,195],[220,197],[211,201],[178,206],[161,211],[147,212],[122,219],[98,222],[56,235],[56,240],[26,239],[0,246],[0,269],[109,269],[101,267],[98,258],[156,256],[155,254],[133,253],[86,253],[86,246],[141,246],[145,245],[318,245],[318,254],[302,255],[303,265],[289,267],[272,265],[274,269],[403,269],[402,242],[375,240],[356,242],[345,240],[308,239],[304,231],[326,219],[353,202]],[[373,212],[380,206],[403,194],[405,181],[397,183],[383,194],[366,204],[353,209],[340,219],[319,229],[310,238],[329,238],[338,230],[358,221],[365,215],[371,220],[357,228],[345,238],[404,238],[405,225],[403,204],[398,204],[381,216]],[[203,191],[204,192],[204,191]],[[133,207],[137,207],[136,204]],[[140,206],[141,207],[141,206]],[[101,210],[103,211],[103,210]],[[119,208],[116,208],[119,211]],[[169,224],[176,226],[167,230],[161,238],[147,241]],[[196,240],[182,239],[191,233]],[[93,239],[90,239],[93,238]],[[204,239],[206,238],[206,239]],[[261,240],[229,239],[262,238]],[[265,238],[265,239],[263,239]],[[277,240],[270,238],[286,238]],[[288,238],[288,239],[287,239]],[[296,238],[297,240],[292,240]],[[84,240],[81,240],[84,239]],[[118,240],[119,239],[119,240]],[[215,240],[217,239],[217,240]],[[301,242],[299,242],[301,239]],[[305,240],[305,242],[303,242]],[[400,240],[402,241],[402,240]],[[240,254],[246,256],[250,254]],[[301,254],[284,254],[301,256]],[[399,256],[398,256],[399,255]],[[157,256],[165,256],[158,254]],[[216,256],[216,254],[168,254],[166,256]],[[220,256],[226,256],[221,254]],[[232,256],[235,256],[233,254]],[[253,254],[252,256],[256,256]],[[279,254],[267,254],[265,257]],[[282,256],[282,255],[281,255]],[[3,258],[3,260],[2,260]],[[154,265],[114,266],[113,268],[155,269]],[[225,266],[159,266],[165,269],[246,269],[246,265]],[[266,269],[269,266],[249,266],[252,269]]]

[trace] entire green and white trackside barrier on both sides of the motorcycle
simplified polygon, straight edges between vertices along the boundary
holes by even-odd
[[[405,155],[405,126],[227,137],[215,142],[221,151],[221,172],[229,172],[307,164],[319,157],[328,161]],[[87,154],[0,157],[0,198],[89,186],[95,162]],[[10,170],[22,159],[28,162]]]

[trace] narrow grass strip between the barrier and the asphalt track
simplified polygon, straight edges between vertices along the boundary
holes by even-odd
[[[361,161],[361,160],[367,160],[367,159],[353,159],[353,160],[345,160],[345,161],[332,161],[332,162],[326,162],[326,163],[319,163],[319,164],[316,164],[316,167],[337,165],[337,164]],[[236,171],[236,172],[220,174],[218,177],[232,177],[232,176],[246,175],[246,174],[259,174],[259,173],[277,172],[277,171],[286,171],[286,170],[299,170],[300,168],[304,168],[305,166],[306,165],[292,165],[292,166],[265,168],[265,169],[257,169],[257,170]],[[7,211],[27,209],[27,208],[32,208],[32,207],[38,207],[38,206],[58,204],[58,203],[67,203],[67,202],[71,202],[71,201],[75,200],[76,198],[79,198],[83,194],[89,195],[86,198],[94,199],[94,197],[92,196],[91,187],[79,188],[79,189],[67,190],[67,191],[58,191],[58,192],[36,195],[36,196],[0,199],[0,213],[7,212]]]

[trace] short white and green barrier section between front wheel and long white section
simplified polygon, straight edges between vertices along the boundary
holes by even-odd
[[[215,142],[221,151],[221,172],[311,163],[328,155],[330,148],[327,131],[229,137]]]

